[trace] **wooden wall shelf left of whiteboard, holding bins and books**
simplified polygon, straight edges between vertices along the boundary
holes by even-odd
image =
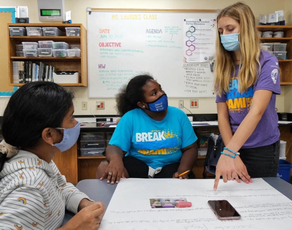
[[[80,36],[9,36],[9,85],[22,86],[23,84],[13,83],[12,61],[33,61],[36,63],[45,62],[48,65],[57,67],[57,70],[62,71],[78,71],[81,74],[78,83],[75,84],[60,84],[63,86],[87,86],[87,32],[82,24],[61,24],[61,23],[8,23],[9,27],[57,27],[64,35],[66,35],[65,27],[80,27]],[[81,57],[16,57],[16,44],[22,42],[38,42],[52,40],[54,42],[66,42],[69,45],[81,45]]]

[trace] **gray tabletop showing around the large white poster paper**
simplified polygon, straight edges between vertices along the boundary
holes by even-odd
[[[155,180],[155,179],[149,179]],[[280,193],[284,194],[290,200],[292,200],[292,184],[287,183],[278,177],[266,177],[263,178],[268,184],[278,190]],[[101,201],[104,205],[109,205],[109,201],[113,196],[117,184],[107,184],[106,180],[81,180],[77,184],[77,188],[89,196],[90,199],[94,201]],[[68,222],[74,216],[73,213],[66,211],[63,224]]]

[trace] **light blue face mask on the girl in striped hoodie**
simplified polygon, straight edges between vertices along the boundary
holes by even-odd
[[[80,122],[78,122],[73,128],[71,129],[64,129],[64,128],[55,128],[55,129],[63,129],[63,139],[60,143],[53,144],[56,146],[61,152],[64,152],[70,149],[78,139],[80,133]]]

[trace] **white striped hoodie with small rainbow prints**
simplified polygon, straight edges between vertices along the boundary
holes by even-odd
[[[19,150],[0,172],[0,229],[56,229],[83,198],[53,161]]]

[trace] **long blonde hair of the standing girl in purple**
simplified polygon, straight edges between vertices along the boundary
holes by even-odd
[[[240,68],[238,72],[238,91],[243,93],[255,84],[260,72],[260,46],[258,30],[255,27],[255,16],[248,5],[237,2],[221,10],[218,20],[227,16],[239,23],[240,31]],[[235,74],[235,55],[224,49],[220,34],[216,33],[216,61],[214,64],[215,82],[214,92],[223,95],[229,91],[230,78]],[[232,75],[232,76],[231,76]]]

